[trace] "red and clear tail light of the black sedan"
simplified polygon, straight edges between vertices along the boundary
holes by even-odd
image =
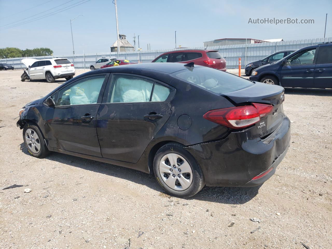
[[[208,111],[203,118],[233,129],[248,127],[268,115],[273,106],[253,103],[253,106],[239,106]]]

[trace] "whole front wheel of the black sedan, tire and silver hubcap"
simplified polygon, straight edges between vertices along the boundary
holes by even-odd
[[[23,140],[32,156],[44,158],[49,154],[49,150],[37,125],[30,123],[24,125]]]

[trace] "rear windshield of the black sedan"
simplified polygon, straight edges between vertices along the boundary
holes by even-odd
[[[214,93],[230,93],[252,86],[254,83],[231,73],[209,67],[194,67],[171,74],[173,77],[195,84]]]

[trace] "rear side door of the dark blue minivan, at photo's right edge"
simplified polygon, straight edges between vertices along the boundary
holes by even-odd
[[[332,46],[321,45],[315,68],[315,88],[332,88]]]

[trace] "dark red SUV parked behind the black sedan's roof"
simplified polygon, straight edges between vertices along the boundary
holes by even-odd
[[[180,62],[207,66],[226,72],[226,60],[217,50],[210,49],[186,49],[163,53],[152,62]]]

